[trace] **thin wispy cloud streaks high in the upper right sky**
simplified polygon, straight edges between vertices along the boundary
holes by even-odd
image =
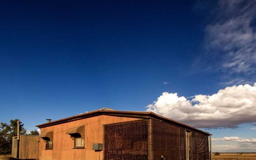
[[[207,48],[230,73],[256,71],[255,5],[255,0],[220,0],[215,22],[206,28]]]

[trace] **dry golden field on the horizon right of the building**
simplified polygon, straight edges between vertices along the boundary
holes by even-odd
[[[239,155],[239,157],[237,156]],[[212,154],[213,160],[256,160],[256,153],[220,153],[219,156]]]

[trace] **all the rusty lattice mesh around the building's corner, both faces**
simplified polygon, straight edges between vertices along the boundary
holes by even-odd
[[[186,160],[186,129],[156,119],[104,125],[104,160]],[[193,160],[209,159],[208,135],[191,132]]]

